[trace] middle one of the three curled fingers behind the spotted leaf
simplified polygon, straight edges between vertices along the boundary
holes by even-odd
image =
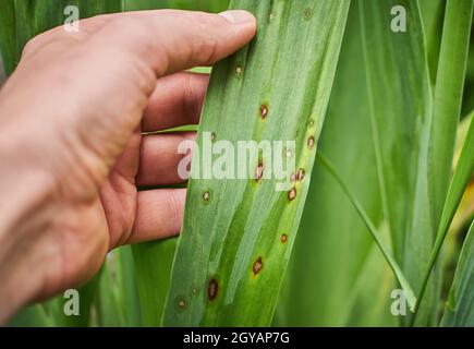
[[[183,172],[187,168],[186,165],[183,164],[182,168],[179,168],[179,165],[185,156],[189,156],[195,137],[195,132],[144,136],[136,184],[138,186],[168,185],[187,180],[186,173]]]

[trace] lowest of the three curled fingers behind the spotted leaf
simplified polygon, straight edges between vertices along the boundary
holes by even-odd
[[[126,243],[165,239],[180,232],[185,189],[159,189],[138,193],[135,225]]]

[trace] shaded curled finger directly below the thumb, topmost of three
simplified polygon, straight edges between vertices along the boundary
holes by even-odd
[[[175,73],[158,80],[144,111],[145,132],[171,129],[199,122],[208,74]]]

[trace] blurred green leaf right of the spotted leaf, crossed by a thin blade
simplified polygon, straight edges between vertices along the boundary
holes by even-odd
[[[344,173],[367,215],[386,232],[374,166],[364,64],[354,69],[354,62],[364,60],[357,4],[358,1],[351,2],[318,148]],[[397,324],[397,317],[390,313],[393,286],[392,273],[367,228],[339,184],[316,161],[274,324],[393,326]]]

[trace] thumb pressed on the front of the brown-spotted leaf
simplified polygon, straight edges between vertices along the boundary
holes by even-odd
[[[255,33],[255,17],[246,11],[210,14],[158,10],[118,16],[88,44],[92,50],[112,48],[135,58],[162,76],[214,64],[248,43]]]

